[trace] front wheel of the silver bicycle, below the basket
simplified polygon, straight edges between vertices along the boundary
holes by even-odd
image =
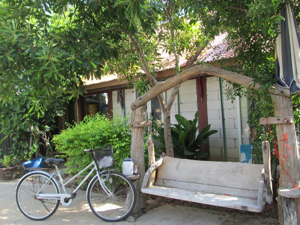
[[[101,176],[104,189],[98,177],[88,187],[87,201],[91,211],[107,222],[124,220],[134,209],[137,194],[132,184],[122,173],[106,171]]]

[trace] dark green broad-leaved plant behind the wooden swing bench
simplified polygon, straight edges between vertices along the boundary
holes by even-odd
[[[217,130],[209,130],[210,125],[202,129],[202,131],[197,135],[198,127],[196,126],[198,122],[199,112],[195,113],[195,119],[187,120],[183,116],[175,115],[178,124],[172,124],[171,135],[173,141],[174,155],[175,158],[185,158],[185,159],[197,159],[204,158],[208,155],[207,152],[200,150],[199,145],[202,143],[207,143],[207,138],[217,133]],[[156,152],[166,152],[166,146],[164,142],[164,128],[161,125],[154,125],[155,131],[158,135],[153,135],[153,138],[160,141],[162,144],[155,148]]]

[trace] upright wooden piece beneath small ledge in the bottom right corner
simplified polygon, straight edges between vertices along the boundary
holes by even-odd
[[[296,199],[282,197],[284,225],[295,225],[297,223]]]

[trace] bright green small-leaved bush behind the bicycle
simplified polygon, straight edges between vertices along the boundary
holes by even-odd
[[[130,157],[131,129],[128,118],[105,118],[96,114],[86,116],[82,122],[75,124],[53,137],[55,149],[67,158],[67,172],[78,173],[91,162],[90,155],[82,149],[98,148],[112,145],[115,168],[122,171],[124,158]]]

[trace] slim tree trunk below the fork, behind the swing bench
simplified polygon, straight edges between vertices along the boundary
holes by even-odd
[[[171,136],[171,116],[170,110],[163,110],[164,113],[164,139],[167,156],[174,158],[174,149]]]

